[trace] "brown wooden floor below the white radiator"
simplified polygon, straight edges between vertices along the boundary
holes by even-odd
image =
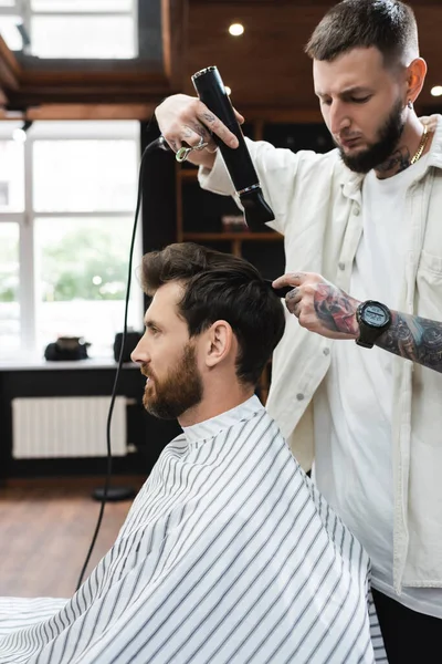
[[[115,477],[136,490],[143,477]],[[103,477],[10,480],[0,487],[0,595],[69,598],[94,533]],[[131,500],[108,502],[88,571],[108,551]],[[87,574],[87,572],[86,572]]]

